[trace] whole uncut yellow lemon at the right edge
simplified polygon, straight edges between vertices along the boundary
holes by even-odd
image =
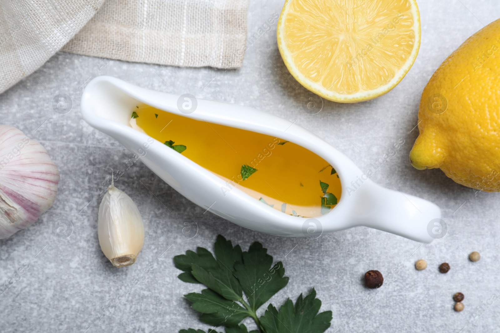
[[[417,169],[440,168],[455,182],[500,191],[500,19],[463,42],[423,89]]]

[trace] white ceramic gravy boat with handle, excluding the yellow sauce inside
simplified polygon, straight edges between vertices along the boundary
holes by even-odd
[[[188,103],[185,107],[191,110],[195,107],[195,110],[188,113],[182,109],[181,112],[183,102]],[[227,188],[224,180],[129,125],[131,110],[138,103],[298,144],[335,168],[342,185],[340,200],[325,215],[303,218],[262,204],[238,188],[222,191]],[[184,95],[179,99],[176,95],[147,90],[109,76],[96,77],[87,84],[81,98],[81,113],[91,126],[141,156],[147,167],[184,197],[242,227],[278,236],[316,238],[322,232],[367,226],[424,243],[436,238],[427,232],[429,223],[441,217],[435,204],[376,185],[345,155],[286,119],[235,104],[185,99]],[[353,185],[356,182],[359,186]]]

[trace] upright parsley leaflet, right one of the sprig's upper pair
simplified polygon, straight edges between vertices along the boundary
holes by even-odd
[[[248,252],[243,252],[243,261],[234,265],[234,275],[241,284],[250,311],[255,311],[288,283],[284,277],[283,263],[272,265],[272,257],[262,244],[255,242]]]

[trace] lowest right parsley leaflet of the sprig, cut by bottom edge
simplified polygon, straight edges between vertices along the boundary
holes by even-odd
[[[330,327],[331,311],[320,314],[321,301],[316,299],[316,291],[312,288],[309,295],[297,298],[295,306],[290,299],[279,308],[269,304],[260,324],[265,333],[323,333]]]

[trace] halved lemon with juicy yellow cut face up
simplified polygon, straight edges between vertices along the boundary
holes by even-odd
[[[305,88],[354,103],[396,86],[420,47],[414,0],[287,0],[277,24],[279,52]]]

